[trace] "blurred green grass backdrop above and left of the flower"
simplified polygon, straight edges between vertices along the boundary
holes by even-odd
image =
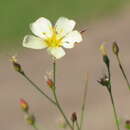
[[[1,0],[1,50],[10,47],[21,48],[24,35],[30,32],[29,24],[41,16],[53,22],[60,16],[66,16],[84,23],[83,21],[113,14],[127,2],[127,0]]]

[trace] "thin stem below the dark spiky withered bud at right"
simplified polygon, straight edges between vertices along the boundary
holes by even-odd
[[[109,95],[110,95],[110,99],[111,99],[111,103],[112,103],[112,107],[113,107],[114,118],[115,118],[117,130],[120,130],[118,116],[117,116],[117,112],[116,112],[116,107],[115,107],[115,103],[114,103],[114,99],[113,99],[113,95],[112,95],[111,90],[109,90]]]

